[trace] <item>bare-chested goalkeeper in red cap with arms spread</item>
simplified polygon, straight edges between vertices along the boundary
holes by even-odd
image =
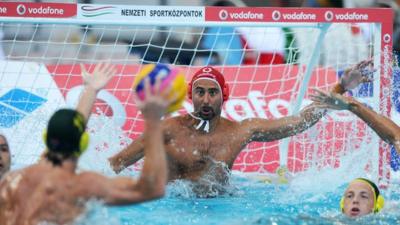
[[[355,67],[361,74],[364,66]],[[350,74],[347,74],[349,77]],[[333,88],[343,93],[360,80],[341,80]],[[229,98],[224,75],[207,66],[192,77],[188,89],[194,112],[163,121],[164,143],[167,152],[169,180],[193,181],[193,191],[199,196],[224,193],[229,171],[247,144],[286,138],[314,125],[324,114],[314,104],[299,115],[279,119],[250,118],[241,122],[221,117],[222,105]],[[110,158],[114,171],[119,172],[143,157],[143,138],[133,141],[126,149]]]

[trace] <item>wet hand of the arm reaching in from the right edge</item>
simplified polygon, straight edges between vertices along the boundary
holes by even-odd
[[[314,89],[316,94],[310,95],[315,106],[324,109],[347,110],[350,107],[349,98],[340,94]]]

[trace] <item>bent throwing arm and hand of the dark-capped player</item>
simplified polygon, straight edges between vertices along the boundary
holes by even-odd
[[[157,79],[154,88],[155,94],[152,94],[149,81],[146,80],[146,100],[137,102],[145,120],[143,143],[146,147],[144,148],[145,160],[142,173],[137,182],[129,178],[111,180],[107,185],[107,195],[104,196],[107,204],[131,204],[160,198],[164,195],[168,169],[161,118],[173,100],[168,100],[167,95],[158,91],[159,84],[160,79]]]

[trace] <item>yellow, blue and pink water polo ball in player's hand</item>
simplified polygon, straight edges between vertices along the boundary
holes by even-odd
[[[144,90],[144,79],[150,79],[150,86],[153,87],[156,83],[156,78],[160,77],[160,91],[170,88],[170,93],[167,94],[169,98],[176,96],[176,100],[172,102],[167,108],[167,112],[171,113],[181,108],[187,93],[187,85],[185,76],[176,68],[171,68],[165,64],[147,64],[143,66],[140,72],[136,75],[133,82],[133,90],[136,92],[138,98],[143,101],[146,99]]]

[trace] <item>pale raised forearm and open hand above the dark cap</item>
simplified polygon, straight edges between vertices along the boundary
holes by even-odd
[[[111,77],[116,73],[116,69],[110,63],[97,64],[92,73],[89,73],[81,64],[81,74],[84,82],[84,89],[79,98],[78,110],[89,120],[97,93],[106,86]]]

